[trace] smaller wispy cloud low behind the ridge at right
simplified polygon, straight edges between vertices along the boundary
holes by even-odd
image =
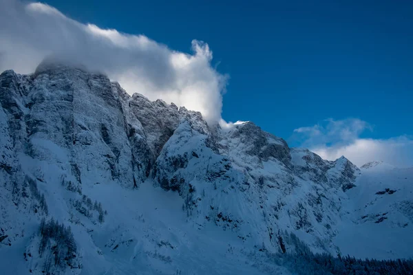
[[[413,139],[408,136],[387,140],[361,138],[372,126],[359,119],[325,120],[320,124],[295,129],[293,138],[324,159],[334,160],[344,155],[357,166],[373,160],[383,160],[399,167],[413,166]]]

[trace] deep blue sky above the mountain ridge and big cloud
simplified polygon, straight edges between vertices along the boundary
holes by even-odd
[[[251,120],[290,145],[307,146],[327,158],[346,153],[354,159],[346,148],[370,140],[394,153],[366,153],[366,159],[399,164],[394,159],[404,152],[403,162],[413,165],[412,1],[43,3],[74,21],[145,34],[179,52],[193,53],[193,39],[208,43],[211,77],[202,81],[213,82],[215,68],[229,76],[222,100],[227,122]],[[45,40],[59,40],[52,35]],[[209,54],[198,48],[200,56]],[[203,72],[204,61],[197,63],[197,72]],[[149,69],[158,72],[158,67]]]

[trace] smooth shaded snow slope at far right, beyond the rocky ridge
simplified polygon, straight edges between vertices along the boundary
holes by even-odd
[[[362,259],[413,258],[413,168],[362,167],[335,243]]]

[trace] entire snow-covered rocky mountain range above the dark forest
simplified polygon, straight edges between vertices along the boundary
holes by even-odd
[[[413,169],[330,162],[60,63],[3,72],[0,104],[3,274],[290,274],[265,259],[291,233],[413,256]]]

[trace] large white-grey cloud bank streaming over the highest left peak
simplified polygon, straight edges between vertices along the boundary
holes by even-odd
[[[43,3],[0,0],[0,70],[34,72],[49,55],[104,72],[129,94],[162,98],[221,118],[227,77],[211,66],[213,54],[192,41],[193,54],[176,52],[144,35],[103,30],[74,21]]]

